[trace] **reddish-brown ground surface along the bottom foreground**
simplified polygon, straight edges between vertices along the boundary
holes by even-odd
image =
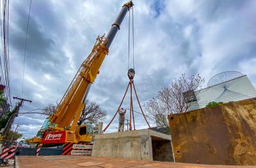
[[[17,157],[16,167],[217,167],[217,168],[237,168],[237,167],[256,167],[256,166],[239,166],[239,165],[203,165],[203,164],[181,164],[171,162],[150,162],[146,160],[128,160],[122,158],[102,158],[91,156],[40,156],[40,157]]]

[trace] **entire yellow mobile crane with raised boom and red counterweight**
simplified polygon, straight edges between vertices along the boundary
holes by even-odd
[[[125,15],[132,6],[132,1],[125,3],[112,24],[108,35],[97,38],[92,52],[77,71],[56,111],[49,116],[49,120],[54,124],[54,127],[48,127],[43,138],[34,137],[30,139],[30,143],[56,144],[92,141],[92,134],[88,134],[87,125],[77,125],[77,122],[84,108],[83,102],[90,87],[97,74],[99,74],[100,66],[108,55],[109,47],[113,43],[116,33],[120,30]]]

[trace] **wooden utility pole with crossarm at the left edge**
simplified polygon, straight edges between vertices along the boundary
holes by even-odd
[[[23,106],[23,102],[24,101],[27,101],[27,102],[32,102],[32,101],[29,101],[27,99],[22,99],[22,98],[19,98],[19,97],[13,97],[13,99],[17,99],[19,100],[19,102],[16,103],[14,109],[12,110],[12,115],[10,116],[8,122],[6,123],[5,127],[4,127],[4,130],[3,130],[3,137],[4,136],[7,136],[7,133],[8,131],[10,130],[10,128],[12,127],[12,124],[14,122],[14,119],[16,116],[18,116],[18,113],[19,113],[19,110],[20,110],[20,107]]]

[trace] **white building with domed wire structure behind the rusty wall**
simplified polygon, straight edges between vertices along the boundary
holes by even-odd
[[[195,91],[188,103],[190,110],[205,108],[209,102],[241,101],[256,97],[256,90],[246,75],[236,71],[217,74],[209,80],[207,88]]]

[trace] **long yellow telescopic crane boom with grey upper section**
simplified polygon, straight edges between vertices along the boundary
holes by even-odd
[[[118,30],[120,30],[120,25],[125,15],[132,6],[132,1],[125,3],[115,22],[112,24],[108,35],[97,38],[92,52],[88,55],[86,60],[84,60],[62,97],[60,104],[58,104],[56,111],[50,116],[51,122],[56,123],[58,127],[65,128],[71,126],[70,131],[76,129],[77,121],[84,108],[83,99],[86,99],[90,85],[92,85],[97,74],[99,74],[100,66],[106,55],[108,55],[109,47],[113,43]]]

